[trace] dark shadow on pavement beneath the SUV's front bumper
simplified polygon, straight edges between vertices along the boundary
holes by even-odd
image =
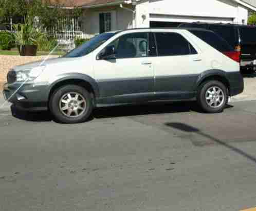
[[[47,112],[47,111],[26,112],[26,111],[21,111],[12,105],[11,112],[12,112],[13,117],[15,117],[17,119],[26,120],[26,121],[40,122],[40,121],[51,121],[52,120],[52,116],[51,116],[50,112]]]

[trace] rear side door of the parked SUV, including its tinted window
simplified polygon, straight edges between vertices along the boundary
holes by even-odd
[[[173,32],[154,33],[158,57],[154,58],[155,89],[158,100],[189,99],[202,72],[202,57],[184,35]]]

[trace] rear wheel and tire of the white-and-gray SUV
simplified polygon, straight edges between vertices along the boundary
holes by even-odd
[[[220,81],[205,81],[198,88],[197,103],[206,113],[223,112],[228,103],[228,89]]]

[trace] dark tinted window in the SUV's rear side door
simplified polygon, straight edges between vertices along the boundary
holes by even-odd
[[[197,54],[192,45],[178,33],[155,33],[158,56]]]

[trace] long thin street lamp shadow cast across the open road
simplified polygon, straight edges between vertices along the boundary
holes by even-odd
[[[208,134],[205,134],[205,133],[201,132],[199,129],[194,128],[193,126],[190,126],[190,125],[184,124],[184,123],[180,123],[180,122],[167,122],[167,123],[165,123],[165,125],[170,126],[171,128],[183,131],[183,132],[196,133],[198,135],[209,138],[210,140],[214,141],[215,143],[221,144],[222,146],[225,146],[228,149],[236,152],[237,154],[240,154],[240,155],[244,156],[245,158],[256,163],[256,158],[254,156],[251,156],[251,155],[247,154],[246,152],[244,152],[243,150],[240,150],[239,148],[234,147],[220,139],[216,139]]]

